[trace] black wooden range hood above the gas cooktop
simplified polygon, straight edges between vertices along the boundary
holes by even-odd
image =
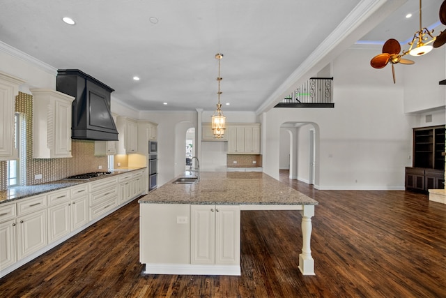
[[[71,138],[117,141],[118,131],[110,110],[114,89],[78,69],[57,70],[56,90],[72,101]]]

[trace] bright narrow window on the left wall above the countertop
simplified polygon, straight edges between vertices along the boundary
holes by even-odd
[[[8,161],[7,163],[7,184],[8,186],[18,186],[22,185],[22,177],[24,176],[24,172],[20,172],[20,168],[25,168],[26,161],[26,150],[22,150],[22,148],[26,148],[25,140],[26,140],[26,122],[22,114],[15,113],[14,117],[14,125],[15,125],[15,136],[14,136],[14,145],[19,152],[19,159],[17,161]]]

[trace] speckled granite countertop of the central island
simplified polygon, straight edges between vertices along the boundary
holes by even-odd
[[[187,177],[182,175],[180,177]],[[178,178],[178,177],[177,177]],[[173,184],[175,179],[139,199],[157,204],[281,204],[318,202],[263,172],[201,172],[197,184]]]

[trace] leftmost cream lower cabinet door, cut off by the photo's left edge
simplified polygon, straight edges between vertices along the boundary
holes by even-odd
[[[15,219],[0,223],[0,268],[13,265],[17,260],[15,246]]]

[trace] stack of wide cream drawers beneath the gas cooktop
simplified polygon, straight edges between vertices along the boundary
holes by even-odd
[[[109,177],[90,184],[89,218],[99,218],[118,205],[118,180]]]

